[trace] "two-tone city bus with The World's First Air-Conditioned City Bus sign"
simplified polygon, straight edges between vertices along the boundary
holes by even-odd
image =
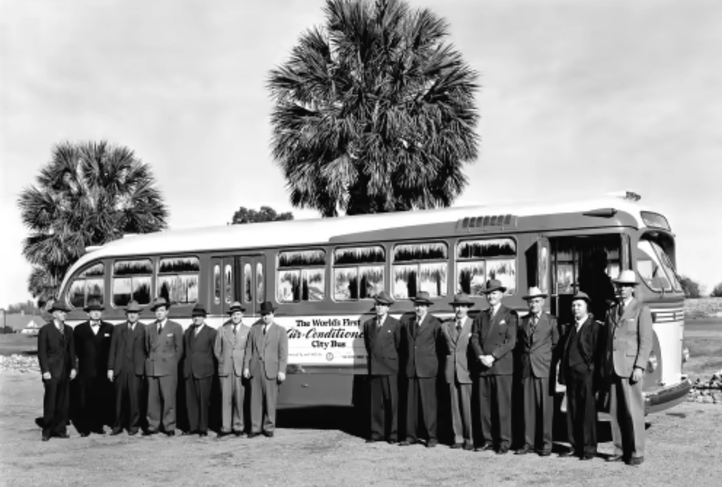
[[[67,322],[87,319],[91,298],[104,303],[103,319],[117,324],[131,299],[148,305],[156,296],[173,302],[169,318],[191,324],[196,302],[219,327],[233,301],[244,322],[260,318],[271,301],[287,330],[287,379],[280,405],[358,405],[366,373],[362,323],[373,316],[373,296],[396,299],[391,314],[413,311],[420,291],[430,311],[453,316],[449,303],[463,291],[472,311],[487,308],[487,279],[507,288],[503,302],[526,312],[530,286],[549,295],[547,311],[571,320],[577,290],[594,300],[593,265],[601,277],[634,270],[636,297],[651,309],[653,351],[646,364],[647,413],[684,400],[684,293],[675,272],[674,234],[664,215],[638,195],[580,202],[453,207],[313,220],[168,230],[126,236],[90,249],[69,270],[59,299],[71,307]],[[601,259],[600,259],[601,257]],[[474,314],[473,312],[471,313]],[[148,309],[142,322],[155,316]],[[604,319],[604,316],[597,316]]]

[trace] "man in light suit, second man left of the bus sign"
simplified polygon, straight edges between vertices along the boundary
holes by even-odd
[[[243,359],[245,343],[251,327],[243,324],[245,308],[238,301],[230,305],[230,319],[223,324],[216,335],[214,353],[218,360],[218,376],[221,386],[222,426],[218,437],[228,434],[242,436],[243,421]]]

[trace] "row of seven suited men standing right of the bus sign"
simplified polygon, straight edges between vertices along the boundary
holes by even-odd
[[[438,400],[444,397],[451,410],[452,448],[505,454],[512,443],[517,390],[523,401],[518,421],[523,421],[524,443],[516,454],[548,456],[558,382],[566,387],[570,443],[560,456],[596,457],[597,405],[606,399],[614,442],[614,454],[606,460],[640,465],[651,313],[634,298],[634,271],[622,271],[612,282],[618,300],[604,316],[596,319],[590,312],[592,299],[578,292],[571,305],[573,320],[564,324],[544,311],[547,294],[539,288],[524,296],[529,313],[518,319],[516,311],[502,304],[506,288],[493,279],[483,289],[489,308],[473,320],[469,309],[474,302],[464,293],[454,296],[454,317],[445,322],[430,314],[432,301],[425,292],[413,299],[414,313],[401,321],[388,314],[393,298],[378,294],[376,316],[363,324],[370,382],[367,441],[406,446],[425,436],[426,447],[435,447]],[[448,391],[439,394],[438,383]],[[477,408],[472,397],[478,397]],[[399,407],[400,399],[405,408]],[[404,418],[401,427],[399,416]],[[480,437],[474,437],[474,419]]]

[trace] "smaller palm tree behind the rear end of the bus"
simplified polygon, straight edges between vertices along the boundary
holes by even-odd
[[[28,290],[40,301],[54,296],[85,247],[168,226],[150,168],[128,147],[62,142],[37,183],[22,191],[18,206],[30,229],[23,243],[33,265]]]

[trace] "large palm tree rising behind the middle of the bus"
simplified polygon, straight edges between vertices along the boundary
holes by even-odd
[[[271,71],[271,147],[295,207],[323,216],[448,206],[477,157],[477,74],[446,23],[403,0],[327,0]]]

